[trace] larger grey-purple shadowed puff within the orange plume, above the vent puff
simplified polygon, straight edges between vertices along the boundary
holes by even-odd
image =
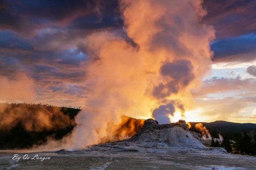
[[[164,76],[167,83],[159,83],[153,89],[153,95],[164,98],[170,94],[178,93],[194,79],[193,66],[189,60],[175,60],[173,63],[166,62],[161,66],[160,74]]]

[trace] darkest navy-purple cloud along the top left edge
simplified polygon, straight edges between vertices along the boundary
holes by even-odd
[[[115,20],[112,20],[112,17]],[[80,21],[89,20],[87,27],[84,22],[79,24],[77,18],[80,18]],[[2,0],[0,2],[0,29],[26,34],[49,26],[63,28],[73,20],[72,27],[81,29],[112,27],[115,22],[119,26],[118,23],[121,20],[118,18],[117,0],[108,2],[104,0]],[[108,22],[110,20],[113,21],[112,24]]]

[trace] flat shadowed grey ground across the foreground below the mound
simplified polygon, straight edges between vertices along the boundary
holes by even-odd
[[[210,149],[120,149],[95,147],[84,151],[28,153],[50,160],[12,160],[14,153],[0,154],[0,169],[255,169],[256,157]],[[26,153],[18,153],[23,157]]]

